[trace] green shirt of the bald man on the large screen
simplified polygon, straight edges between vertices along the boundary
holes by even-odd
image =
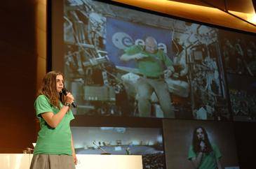
[[[133,45],[126,48],[125,52],[128,55],[137,53],[147,55],[147,57],[137,60],[137,64],[140,73],[149,77],[159,77],[163,75],[163,71],[166,67],[173,65],[173,62],[164,54],[163,50],[157,50],[156,53],[151,54],[146,52],[142,45]]]

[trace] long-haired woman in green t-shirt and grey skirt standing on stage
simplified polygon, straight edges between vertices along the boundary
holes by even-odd
[[[64,75],[57,71],[47,73],[34,103],[41,130],[30,169],[75,169],[77,163],[69,123],[74,116],[70,105],[72,94],[62,93]]]

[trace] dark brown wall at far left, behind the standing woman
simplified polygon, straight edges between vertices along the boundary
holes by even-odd
[[[36,140],[36,34],[33,0],[1,1],[0,153],[22,153]]]

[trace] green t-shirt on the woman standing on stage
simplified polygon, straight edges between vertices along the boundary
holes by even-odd
[[[60,103],[60,107],[62,107]],[[34,154],[67,154],[72,155],[71,147],[71,130],[69,123],[74,116],[69,110],[62,121],[56,128],[51,128],[46,121],[41,117],[43,112],[58,113],[60,110],[53,105],[50,105],[49,99],[40,95],[34,103],[36,116],[39,118],[41,130],[39,131]]]

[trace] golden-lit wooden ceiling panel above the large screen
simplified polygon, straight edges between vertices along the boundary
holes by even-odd
[[[112,1],[128,4],[130,6],[137,6],[138,8],[144,8],[159,13],[165,13],[176,17],[182,17],[189,20],[195,20],[198,22],[205,22],[208,24],[215,24],[222,27],[229,27],[233,29],[256,33],[256,27],[254,25],[249,24],[248,22],[245,22],[238,17],[234,17],[233,15],[230,15],[229,13],[226,13],[220,9],[191,4],[192,1],[181,0],[186,1],[187,3],[168,0]],[[218,4],[220,5],[221,3]]]

